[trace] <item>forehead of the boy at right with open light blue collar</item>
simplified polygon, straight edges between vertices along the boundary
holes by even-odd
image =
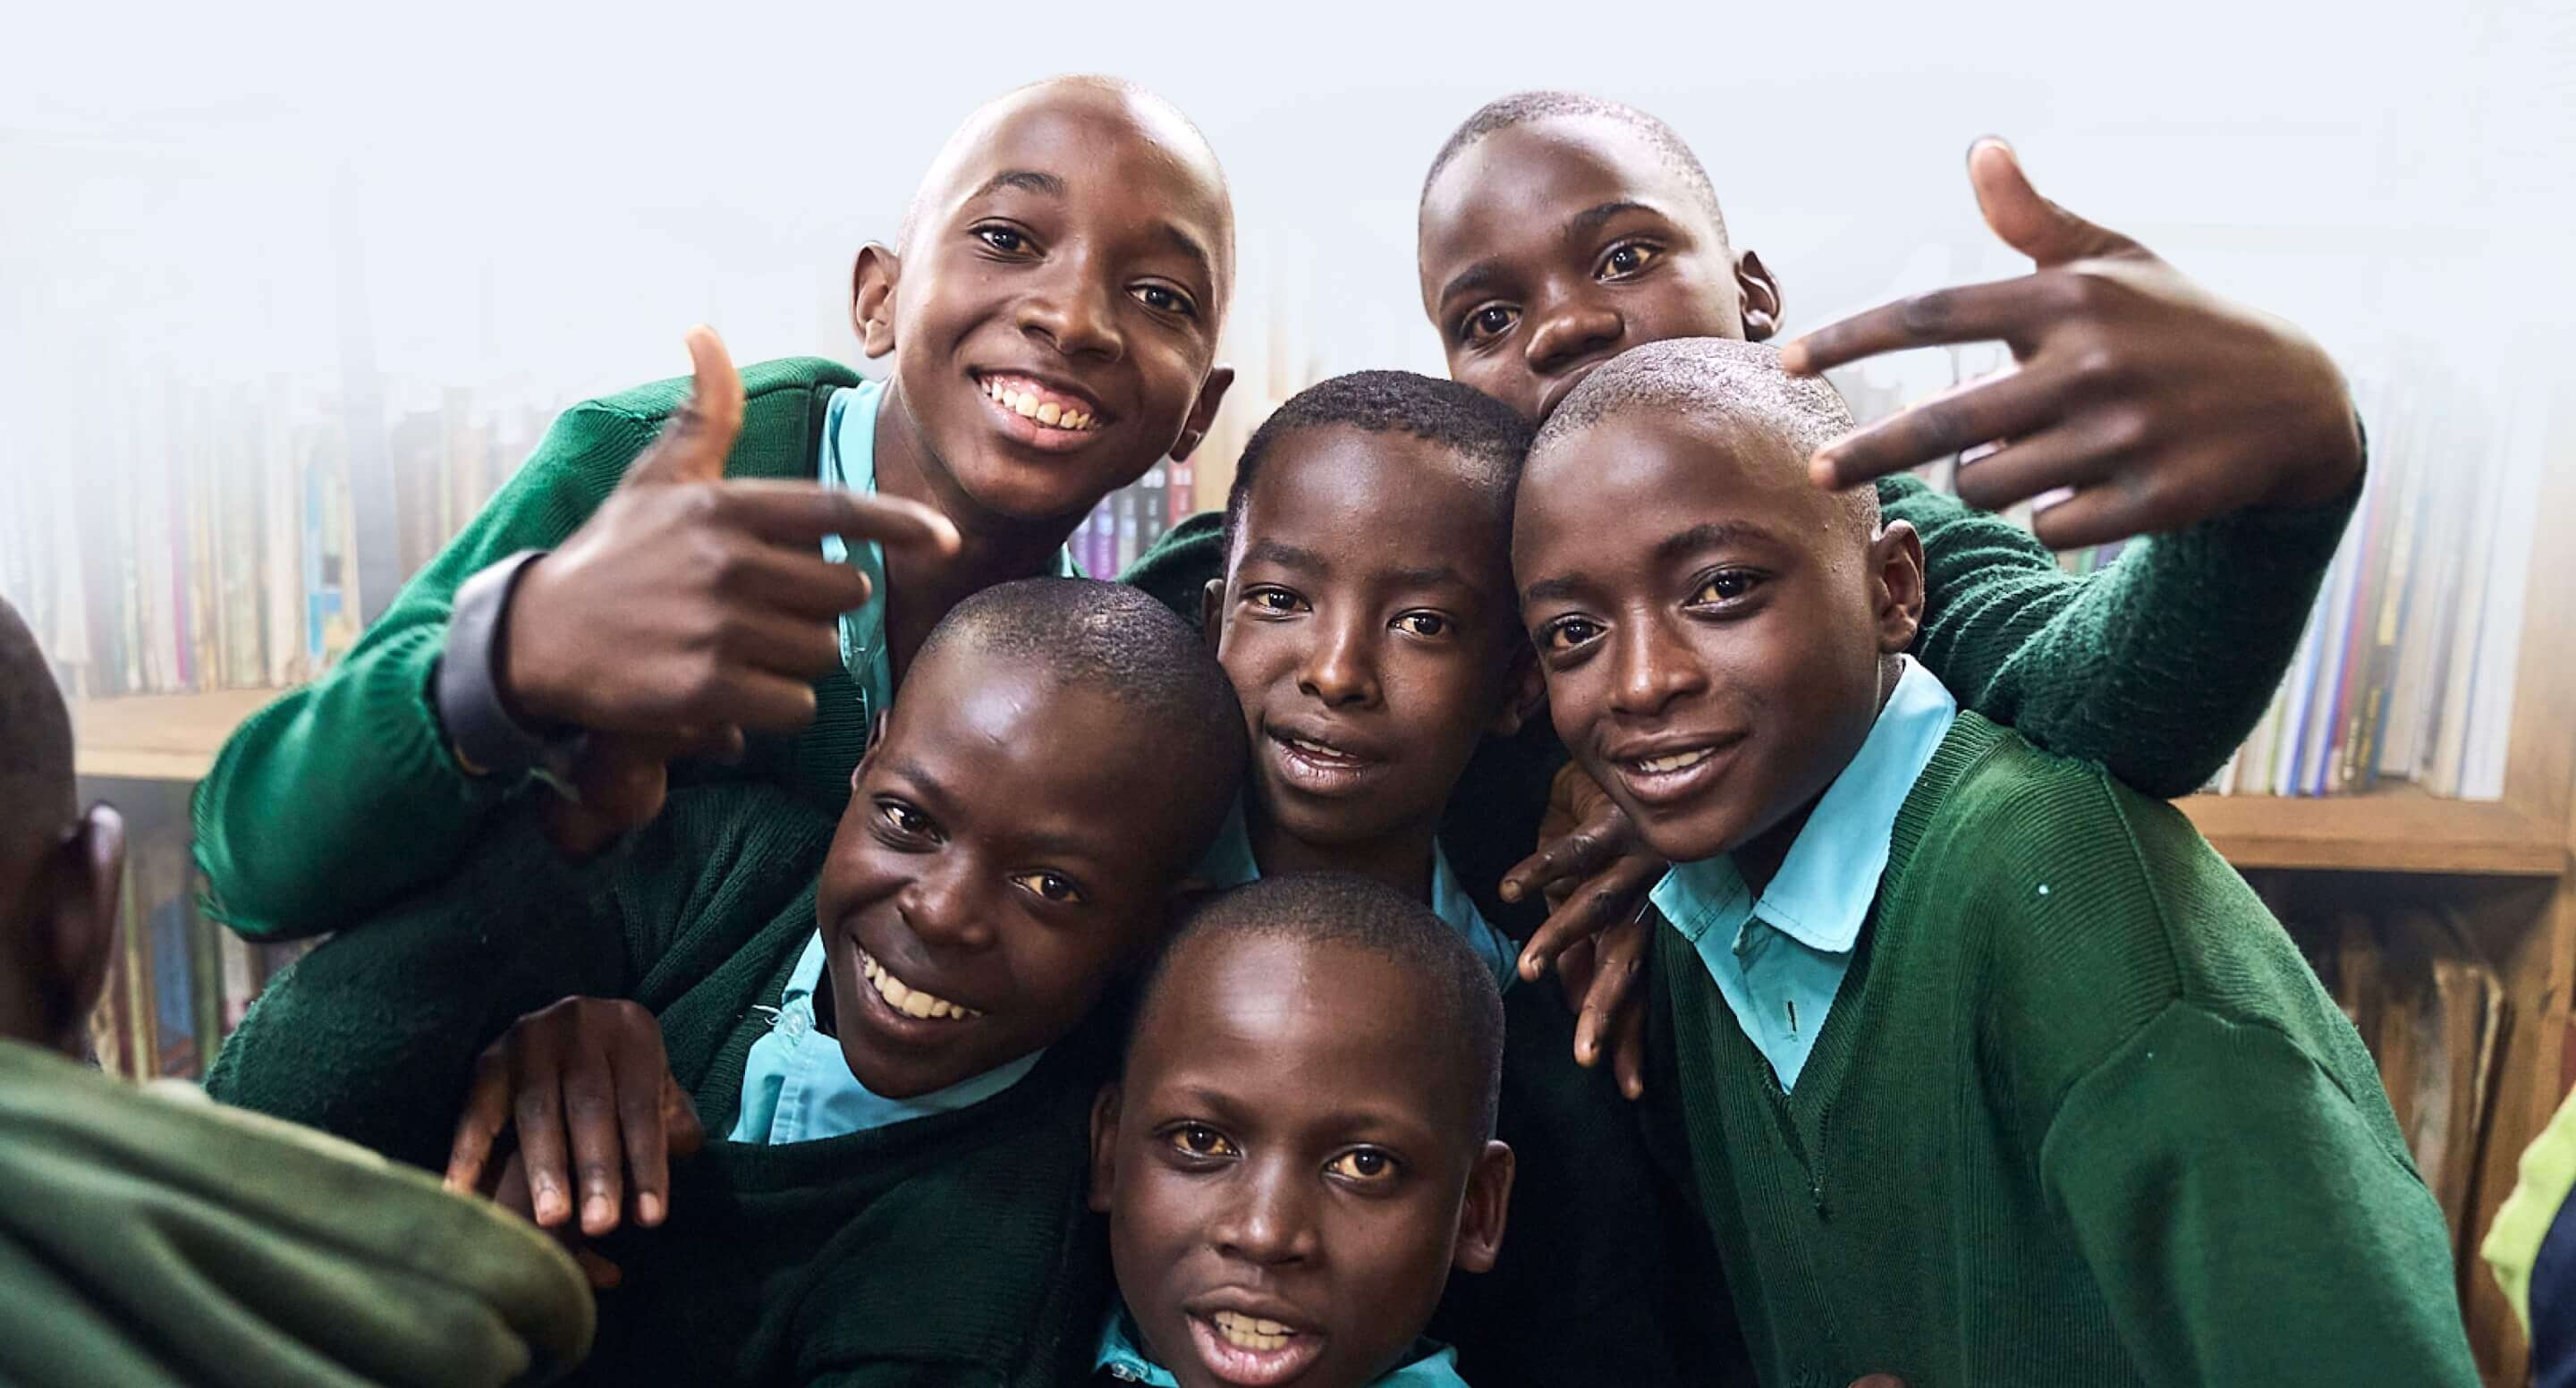
[[[1824,549],[1839,502],[1806,476],[1806,453],[1777,425],[1741,415],[1682,415],[1654,404],[1613,409],[1530,458],[1520,484],[1520,559],[1628,554],[1692,525],[1759,520]]]

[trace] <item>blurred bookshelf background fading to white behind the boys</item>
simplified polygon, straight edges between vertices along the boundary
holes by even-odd
[[[193,914],[185,791],[309,680],[564,404],[739,361],[855,361],[850,258],[1023,80],[1180,103],[1234,180],[1242,371],[1190,469],[1077,536],[1113,572],[1216,505],[1260,417],[1363,366],[1440,371],[1422,173],[1479,103],[1620,98],[1705,160],[1788,330],[2022,273],[1963,152],[2347,366],[2370,494],[2282,693],[2184,809],[2380,1053],[2468,1270],[2576,1064],[2576,8],[2179,0],[1406,8],[544,3],[54,5],[0,52],[0,595],[137,806],[103,1051],[193,1071],[276,961]],[[1996,366],[1842,376],[1862,415]],[[2089,569],[2112,554],[2066,556]]]

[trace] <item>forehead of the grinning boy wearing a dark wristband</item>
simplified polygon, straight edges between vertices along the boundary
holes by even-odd
[[[933,167],[930,203],[953,216],[999,173],[1061,178],[1077,206],[1139,221],[1175,221],[1229,273],[1234,203],[1216,155],[1157,100],[1061,82],[976,113]]]

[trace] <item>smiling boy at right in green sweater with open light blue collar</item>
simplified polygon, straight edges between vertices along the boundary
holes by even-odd
[[[1901,652],[1922,549],[1770,348],[1589,373],[1520,482],[1556,729],[1674,868],[1649,1107],[1765,1383],[2476,1383],[2378,1071],[2172,806]]]

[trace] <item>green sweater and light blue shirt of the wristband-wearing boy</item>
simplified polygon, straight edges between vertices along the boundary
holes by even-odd
[[[742,368],[742,435],[729,479],[822,482],[876,492],[884,386],[822,358]],[[477,775],[440,721],[438,675],[459,590],[479,572],[564,543],[626,479],[688,399],[654,381],[564,409],[546,440],[325,677],[250,716],[193,798],[206,912],[252,937],[314,935],[438,883],[510,806],[544,793],[533,775]],[[878,600],[842,615],[842,670],[814,680],[814,721],[752,736],[739,767],[680,778],[768,780],[840,814],[868,729],[894,698],[886,662],[886,567],[873,541],[829,538]],[[1077,574],[1059,551],[1056,574]]]

